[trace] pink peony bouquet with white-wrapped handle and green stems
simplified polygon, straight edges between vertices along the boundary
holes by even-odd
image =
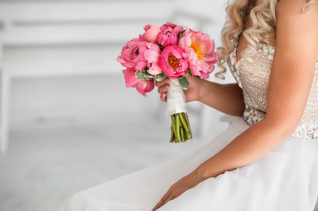
[[[170,142],[192,139],[183,90],[189,88],[185,75],[208,78],[218,59],[214,40],[208,34],[167,22],[145,25],[145,32],[122,48],[117,61],[126,67],[126,87],[137,88],[146,97],[154,81],[170,78],[167,110],[171,116]]]

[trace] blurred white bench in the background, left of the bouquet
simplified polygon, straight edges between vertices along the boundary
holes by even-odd
[[[199,28],[209,21],[201,14],[190,15],[175,10],[174,3],[176,1],[171,0],[162,0],[160,4],[154,0],[0,3],[1,153],[4,154],[8,148],[12,78],[121,73],[118,69],[122,67],[116,62],[118,48],[112,46],[123,46],[133,38],[132,35],[143,33],[143,25],[161,25],[175,20],[176,16],[191,18]],[[166,6],[168,4],[169,7]],[[152,8],[157,12],[153,12]],[[28,47],[78,45],[109,45],[109,48],[105,50],[105,55],[88,55],[85,59],[68,59],[65,55],[63,59],[38,60],[34,52],[28,53]],[[33,55],[12,62],[6,57],[6,50],[17,47],[23,49],[25,55]]]

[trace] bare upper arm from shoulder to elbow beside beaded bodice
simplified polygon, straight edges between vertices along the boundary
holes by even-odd
[[[295,130],[315,71],[318,51],[318,5],[302,13],[305,0],[280,0],[276,9],[275,54],[267,97],[267,117],[284,120]]]

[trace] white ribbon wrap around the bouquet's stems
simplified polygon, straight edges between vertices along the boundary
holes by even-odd
[[[169,115],[186,112],[185,96],[178,79],[170,79],[170,89],[167,93],[167,111]]]

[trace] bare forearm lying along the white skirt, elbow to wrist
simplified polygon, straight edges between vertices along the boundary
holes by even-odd
[[[273,124],[265,118],[248,128],[203,162],[195,170],[198,177],[203,181],[262,158],[291,134],[291,127],[282,126],[281,123]]]

